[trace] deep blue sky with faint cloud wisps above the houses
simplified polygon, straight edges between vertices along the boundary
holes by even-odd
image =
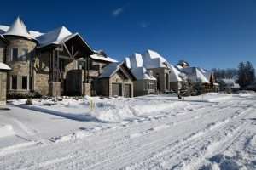
[[[256,66],[255,0],[4,1],[0,24],[20,15],[29,30],[67,26],[115,59],[153,49],[207,69]],[[5,8],[7,7],[7,8]]]

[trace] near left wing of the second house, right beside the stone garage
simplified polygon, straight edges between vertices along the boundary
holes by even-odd
[[[132,54],[125,58],[125,65],[136,77],[134,81],[134,96],[145,94],[154,94],[156,89],[156,78],[152,71],[147,71],[143,66],[143,56],[141,54]]]

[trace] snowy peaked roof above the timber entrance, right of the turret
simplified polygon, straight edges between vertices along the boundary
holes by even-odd
[[[71,31],[68,31],[65,26],[61,26],[53,31],[49,31],[42,36],[37,37],[39,47],[44,47],[49,44],[60,44],[65,38],[72,36]]]

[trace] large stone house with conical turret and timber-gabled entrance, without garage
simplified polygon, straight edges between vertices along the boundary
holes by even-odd
[[[17,18],[12,26],[0,26],[0,35],[0,54],[12,68],[7,77],[9,94],[90,95],[92,79],[104,65],[115,62],[65,26],[47,33],[27,31]]]

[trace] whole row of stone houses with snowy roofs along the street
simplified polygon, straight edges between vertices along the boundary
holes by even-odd
[[[178,91],[183,72],[206,88],[216,85],[210,71],[171,65],[153,50],[131,54],[123,61],[96,51],[79,33],[61,26],[42,33],[28,31],[18,17],[0,26],[0,93],[42,95],[103,95],[133,97]]]

